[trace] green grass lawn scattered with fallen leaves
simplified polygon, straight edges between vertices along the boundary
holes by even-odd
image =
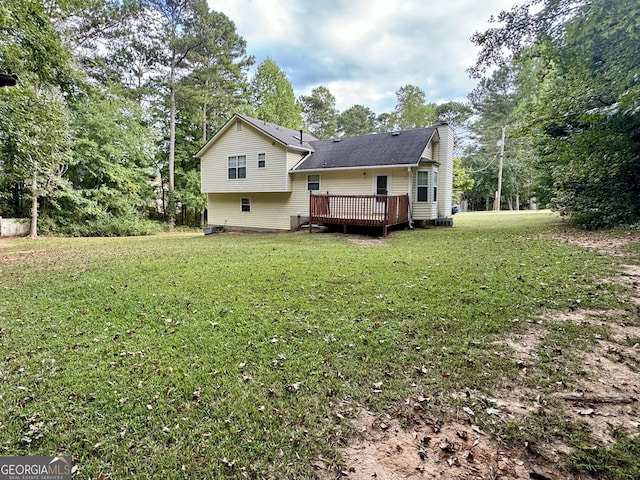
[[[74,455],[78,478],[317,478],[318,458],[341,465],[363,410],[407,418],[404,399],[420,396],[446,418],[460,407],[452,392],[490,396],[522,378],[493,342],[543,312],[616,308],[637,321],[625,287],[600,281],[620,260],[558,240],[565,230],[548,213],[505,213],[363,244],[4,240],[0,454]],[[599,332],[550,334],[571,352]],[[550,393],[569,381],[551,363],[518,381]],[[490,420],[477,419],[521,440],[518,425]],[[528,435],[589,440],[562,425]]]

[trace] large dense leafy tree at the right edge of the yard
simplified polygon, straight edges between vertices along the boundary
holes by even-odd
[[[529,131],[555,208],[588,228],[640,222],[640,5],[532,1],[498,20],[474,35],[481,51],[471,71],[535,66]]]

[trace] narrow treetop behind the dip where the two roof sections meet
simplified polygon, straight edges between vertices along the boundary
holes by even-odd
[[[316,87],[311,95],[302,95],[302,118],[305,127],[319,139],[331,138],[338,130],[336,97],[326,87]]]

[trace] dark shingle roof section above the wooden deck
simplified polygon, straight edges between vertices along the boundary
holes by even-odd
[[[429,127],[311,141],[313,153],[295,170],[415,165],[436,132],[436,127]]]

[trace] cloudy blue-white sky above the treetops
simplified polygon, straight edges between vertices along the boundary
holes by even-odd
[[[324,86],[344,111],[391,112],[396,92],[417,85],[427,102],[464,101],[475,31],[523,0],[208,0],[247,41],[256,66],[274,60],[296,97]],[[255,69],[255,67],[254,67]],[[252,73],[252,72],[251,72]],[[250,73],[250,74],[251,74]]]

